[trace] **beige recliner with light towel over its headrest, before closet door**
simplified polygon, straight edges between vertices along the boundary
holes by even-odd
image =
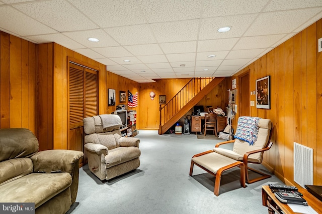
[[[122,122],[118,115],[86,117],[83,122],[89,169],[100,180],[112,179],[140,166],[140,140],[121,137]]]

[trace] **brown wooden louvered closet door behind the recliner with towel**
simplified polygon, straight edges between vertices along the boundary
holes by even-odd
[[[97,71],[69,63],[68,77],[68,149],[84,152],[83,119],[98,114]]]

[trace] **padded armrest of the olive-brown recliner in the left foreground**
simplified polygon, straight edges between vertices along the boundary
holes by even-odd
[[[81,151],[53,149],[37,152],[31,156],[30,159],[34,165],[34,172],[46,172],[60,170],[73,174],[75,163],[84,156]]]

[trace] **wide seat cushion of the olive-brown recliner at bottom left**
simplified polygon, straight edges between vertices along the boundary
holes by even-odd
[[[71,182],[67,172],[31,173],[0,186],[1,202],[34,202],[37,208],[68,188]]]

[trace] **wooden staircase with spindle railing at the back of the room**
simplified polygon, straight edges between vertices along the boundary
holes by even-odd
[[[192,78],[169,102],[163,107],[160,105],[158,134],[164,134],[223,79]]]

